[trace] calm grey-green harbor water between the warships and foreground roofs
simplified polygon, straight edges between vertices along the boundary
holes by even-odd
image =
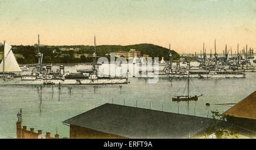
[[[233,106],[214,104],[237,103],[254,92],[255,79],[255,72],[240,79],[191,79],[196,87],[191,90],[199,89],[204,96],[189,102],[172,101],[187,79],[159,78],[150,83],[148,78],[128,78],[130,83],[121,85],[0,85],[0,138],[16,138],[20,108],[28,130],[32,127],[54,136],[57,128],[60,138],[69,137],[69,127],[62,121],[105,103],[210,117],[210,110],[222,113]]]

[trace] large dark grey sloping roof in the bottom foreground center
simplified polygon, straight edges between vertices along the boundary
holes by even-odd
[[[63,121],[127,138],[188,138],[207,128],[211,119],[104,104]]]

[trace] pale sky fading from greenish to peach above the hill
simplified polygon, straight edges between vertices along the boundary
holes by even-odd
[[[256,1],[0,1],[0,41],[34,45],[151,43],[178,53],[255,49]]]

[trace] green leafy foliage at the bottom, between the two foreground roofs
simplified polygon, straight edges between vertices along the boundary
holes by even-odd
[[[205,137],[207,138],[210,134],[215,134],[216,138],[222,139],[222,138],[238,138],[237,135],[239,134],[237,129],[233,126],[223,126],[218,123],[218,121],[227,121],[227,116],[225,114],[221,114],[216,111],[211,111],[212,113],[212,123],[208,127],[208,129],[205,131]]]

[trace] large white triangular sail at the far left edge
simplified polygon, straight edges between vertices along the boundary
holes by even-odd
[[[0,72],[18,72],[22,71],[20,70],[20,67],[18,65],[18,62],[16,61],[13,51],[11,50],[11,45],[5,42],[4,47],[4,59],[2,60],[0,64]],[[5,61],[5,62],[4,62]],[[5,65],[5,66],[3,66]]]

